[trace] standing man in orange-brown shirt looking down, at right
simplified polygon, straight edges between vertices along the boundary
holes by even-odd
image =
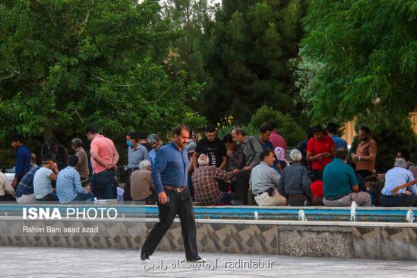
[[[356,154],[352,154],[357,174],[363,179],[373,174],[375,170],[375,160],[377,159],[378,145],[370,136],[368,126],[361,126],[358,133],[361,142],[357,145]]]

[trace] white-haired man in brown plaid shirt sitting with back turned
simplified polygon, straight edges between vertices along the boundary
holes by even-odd
[[[232,172],[224,172],[218,167],[210,166],[210,160],[201,154],[197,160],[199,167],[193,172],[195,202],[199,205],[230,204],[233,194],[222,193],[218,179],[230,181]]]

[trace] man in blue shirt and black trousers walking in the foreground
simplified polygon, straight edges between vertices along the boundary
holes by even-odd
[[[186,150],[188,140],[190,129],[184,125],[177,126],[172,142],[156,153],[152,179],[158,195],[159,222],[152,228],[140,250],[140,259],[145,263],[149,263],[149,256],[170,229],[175,215],[179,216],[181,222],[187,261],[202,261],[197,253],[193,201],[187,186],[187,169],[190,164]]]

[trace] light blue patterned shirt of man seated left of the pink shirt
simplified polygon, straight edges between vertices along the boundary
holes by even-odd
[[[78,193],[87,194],[87,190],[81,186],[79,172],[71,166],[60,170],[56,179],[56,195],[58,196],[59,202],[71,202]]]

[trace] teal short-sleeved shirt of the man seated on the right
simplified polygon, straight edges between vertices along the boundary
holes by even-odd
[[[354,170],[339,158],[327,164],[323,172],[325,197],[337,197],[352,193],[352,187],[357,186],[358,180]]]

